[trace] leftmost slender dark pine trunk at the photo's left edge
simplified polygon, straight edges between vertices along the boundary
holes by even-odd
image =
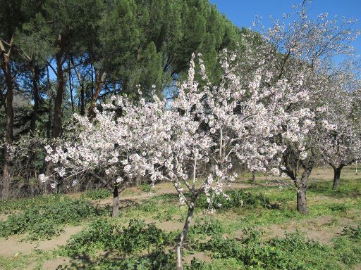
[[[9,146],[13,142],[13,79],[11,77],[10,59],[5,57],[3,64],[3,72],[6,81],[6,127],[5,127],[5,143],[4,147],[4,172],[3,172],[3,188],[2,198],[10,197],[11,188],[11,155]]]

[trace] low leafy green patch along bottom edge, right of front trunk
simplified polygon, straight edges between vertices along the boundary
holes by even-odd
[[[216,259],[237,259],[239,269],[243,265],[244,269],[341,269],[329,246],[305,240],[299,233],[271,240],[262,240],[257,231],[245,231],[241,240],[215,236],[201,250],[212,252]],[[208,269],[197,262],[192,267]]]

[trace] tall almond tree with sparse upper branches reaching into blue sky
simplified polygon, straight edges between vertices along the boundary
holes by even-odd
[[[264,42],[253,46],[255,49],[246,46],[246,51],[250,53],[243,58],[245,67],[257,66],[258,63],[267,66],[266,70],[271,75],[269,85],[281,79],[287,79],[293,85],[302,77],[302,87],[293,87],[293,92],[296,94],[297,89],[308,91],[308,101],[283,107],[289,114],[295,110],[295,115],[300,108],[304,109],[305,118],[298,121],[299,138],[296,141],[280,140],[288,146],[283,152],[281,170],[295,183],[298,211],[302,214],[307,214],[307,181],[317,160],[317,127],[310,124],[322,117],[319,98],[327,91],[324,80],[329,76],[325,63],[332,62],[334,56],[352,57],[355,53],[352,42],[360,34],[359,30],[353,29],[355,20],[329,19],[327,13],[320,14],[316,19],[309,18],[306,11],[308,2],[304,0],[295,6],[293,14],[284,14],[283,22],[275,20],[269,29],[262,28]],[[247,40],[252,43],[252,39]],[[289,128],[289,124],[284,126],[283,134]],[[299,167],[303,168],[300,176]]]

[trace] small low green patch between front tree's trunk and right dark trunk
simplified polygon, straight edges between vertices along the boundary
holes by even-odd
[[[205,195],[201,195],[199,200],[197,201],[197,207],[207,209],[208,207],[214,207],[214,209],[229,209],[232,207],[267,207],[271,208],[271,203],[269,199],[263,195],[262,193],[253,194],[250,192],[245,192],[242,190],[232,190],[226,191],[226,198],[222,194],[212,194],[212,203],[209,205],[207,203],[207,197]]]

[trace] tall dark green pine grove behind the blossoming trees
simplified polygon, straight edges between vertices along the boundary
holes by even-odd
[[[219,53],[236,49],[245,32],[209,0],[0,0],[0,6],[0,38],[13,40],[14,142],[30,129],[30,137],[68,136],[61,131],[73,123],[73,113],[92,114],[92,106],[112,94],[137,101],[139,88],[146,99],[163,97],[173,78],[186,78],[192,53],[202,53],[209,79],[219,82]],[[0,71],[0,85],[4,75]],[[44,148],[31,145],[23,152],[11,168],[13,194],[42,193],[37,176],[44,171]],[[71,186],[73,180],[63,191],[87,188]]]

